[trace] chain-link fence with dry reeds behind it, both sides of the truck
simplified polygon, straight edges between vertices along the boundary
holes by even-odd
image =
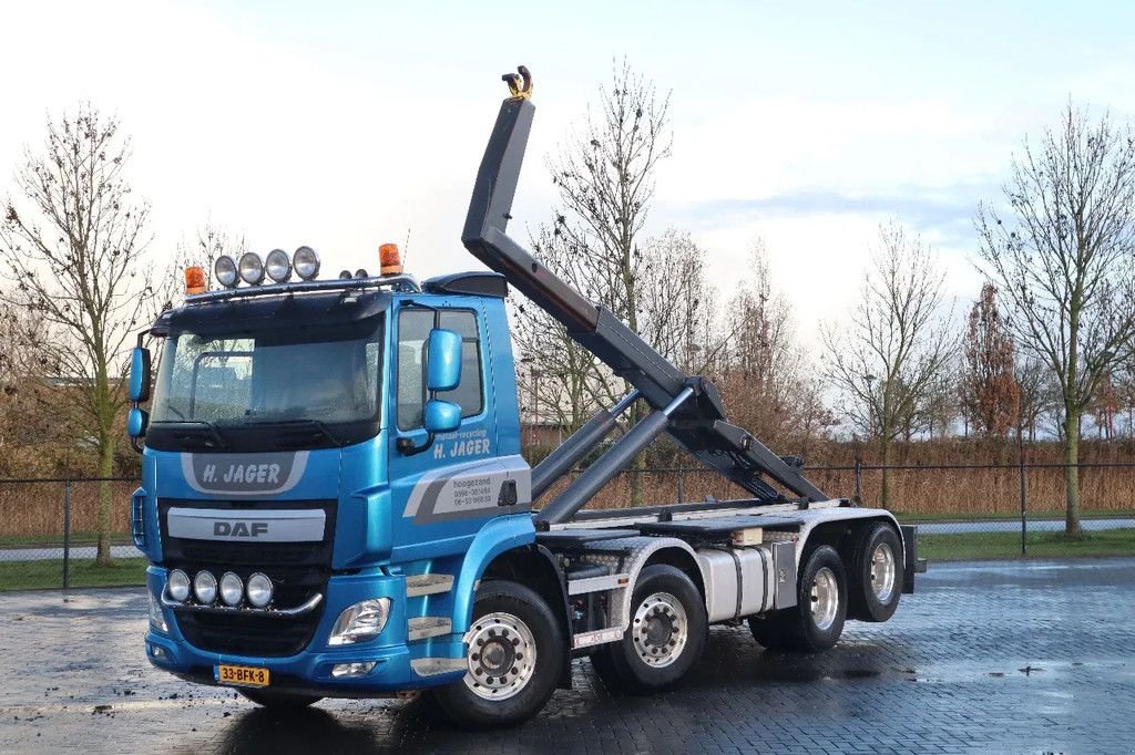
[[[1135,554],[1135,463],[1079,465],[1081,526],[1069,540],[1062,464],[817,466],[805,470],[831,495],[885,506],[919,526],[932,561],[1028,555]],[[549,490],[553,500],[573,475]],[[133,478],[0,480],[0,592],[142,584],[145,559],[131,538]],[[99,500],[111,502],[99,558]],[[630,468],[589,509],[745,498],[706,468]]]

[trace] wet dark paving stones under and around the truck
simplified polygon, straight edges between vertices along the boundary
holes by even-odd
[[[426,699],[284,716],[143,656],[137,588],[0,595],[0,752],[1135,752],[1135,560],[932,565],[888,623],[817,656],[715,628],[649,697],[586,660],[529,723],[454,731]]]

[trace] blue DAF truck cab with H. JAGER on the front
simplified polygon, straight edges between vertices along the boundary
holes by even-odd
[[[312,695],[460,678],[478,565],[535,541],[505,292],[387,275],[159,319],[134,497],[152,662]]]

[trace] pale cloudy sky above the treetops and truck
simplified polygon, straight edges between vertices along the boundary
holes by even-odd
[[[935,248],[966,308],[978,202],[1069,100],[1135,114],[1129,2],[3,2],[0,197],[49,116],[90,101],[132,136],[155,265],[212,222],[325,270],[405,245],[478,269],[460,230],[505,87],[537,117],[513,210],[625,59],[672,97],[649,232],[689,230],[728,295],[763,239],[802,340],[846,317],[880,223]]]

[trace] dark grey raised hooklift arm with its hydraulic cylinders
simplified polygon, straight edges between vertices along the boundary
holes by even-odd
[[[637,433],[632,430],[620,439],[589,467],[588,473],[598,468],[591,474],[585,473],[569,485],[556,500],[541,509],[538,520],[554,524],[570,519],[603,482],[663,431],[703,464],[753,493],[756,504],[784,500],[780,492],[762,480],[762,475],[798,495],[805,503],[826,499],[818,487],[805,480],[796,465],[785,463],[745,430],[725,422],[721,397],[709,380],[687,375],[671,364],[617,317],[587,300],[506,235],[536,112],[530,99],[531,75],[523,66],[518,70],[520,77],[515,74],[503,77],[512,96],[501,103],[496,125],[477,171],[461,240],[474,257],[502,273],[536,306],[563,323],[572,339],[633,385],[655,409],[639,423],[647,423],[645,427]],[[592,423],[599,419],[597,415]],[[585,425],[585,430],[592,423]],[[604,421],[602,424],[609,432],[614,422]],[[591,427],[586,439],[572,436],[565,443],[571,451],[568,456],[581,458],[605,434]],[[554,470],[541,470],[543,465],[533,469],[533,478],[539,478],[541,483],[540,491],[566,472],[564,456],[556,457]]]

